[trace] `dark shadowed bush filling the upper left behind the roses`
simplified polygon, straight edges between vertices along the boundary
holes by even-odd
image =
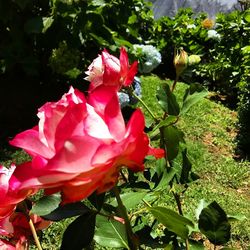
[[[86,90],[82,71],[93,58],[141,43],[152,24],[143,0],[0,0],[1,135],[30,127],[28,117],[69,84]]]

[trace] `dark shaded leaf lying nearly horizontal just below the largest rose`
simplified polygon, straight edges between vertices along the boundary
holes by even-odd
[[[45,220],[60,221],[73,216],[83,215],[90,211],[90,209],[81,202],[69,203],[57,207],[51,213],[43,215]]]

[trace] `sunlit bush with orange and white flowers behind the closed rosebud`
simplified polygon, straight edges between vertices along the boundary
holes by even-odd
[[[249,11],[218,14],[210,20],[206,14],[194,16],[191,9],[181,9],[173,18],[162,17],[154,26],[154,43],[163,57],[160,70],[171,75],[175,49],[201,56],[201,63],[186,71],[183,80],[198,81],[220,91],[236,106],[241,81],[241,48],[249,44]],[[160,72],[162,73],[162,72]]]

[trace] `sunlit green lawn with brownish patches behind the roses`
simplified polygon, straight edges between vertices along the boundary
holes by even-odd
[[[157,76],[141,77],[141,80],[144,101],[155,114],[160,115],[155,92],[159,84],[165,81]],[[187,85],[183,83],[177,84],[175,91],[179,101],[186,88]],[[146,111],[145,115],[150,123],[151,118]],[[236,122],[236,112],[209,100],[209,97],[193,106],[180,119],[178,126],[185,132],[193,171],[200,176],[185,192],[182,205],[184,213],[193,218],[201,199],[208,202],[216,200],[230,215],[244,215],[246,219],[232,223],[232,240],[229,246],[235,249],[249,249],[250,163],[241,162],[234,155]],[[22,151],[3,148],[0,159],[0,163],[7,166],[11,161],[21,163],[27,160],[27,156]],[[168,194],[161,199],[164,205],[173,206],[172,201]],[[62,233],[69,221],[53,223],[45,231],[42,235],[43,249],[59,249]]]

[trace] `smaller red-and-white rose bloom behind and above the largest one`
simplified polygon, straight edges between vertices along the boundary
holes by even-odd
[[[125,48],[120,49],[120,58],[112,56],[104,50],[88,67],[85,79],[90,81],[90,91],[100,85],[116,86],[119,90],[122,86],[129,86],[137,73],[135,61],[129,65],[128,54]]]

